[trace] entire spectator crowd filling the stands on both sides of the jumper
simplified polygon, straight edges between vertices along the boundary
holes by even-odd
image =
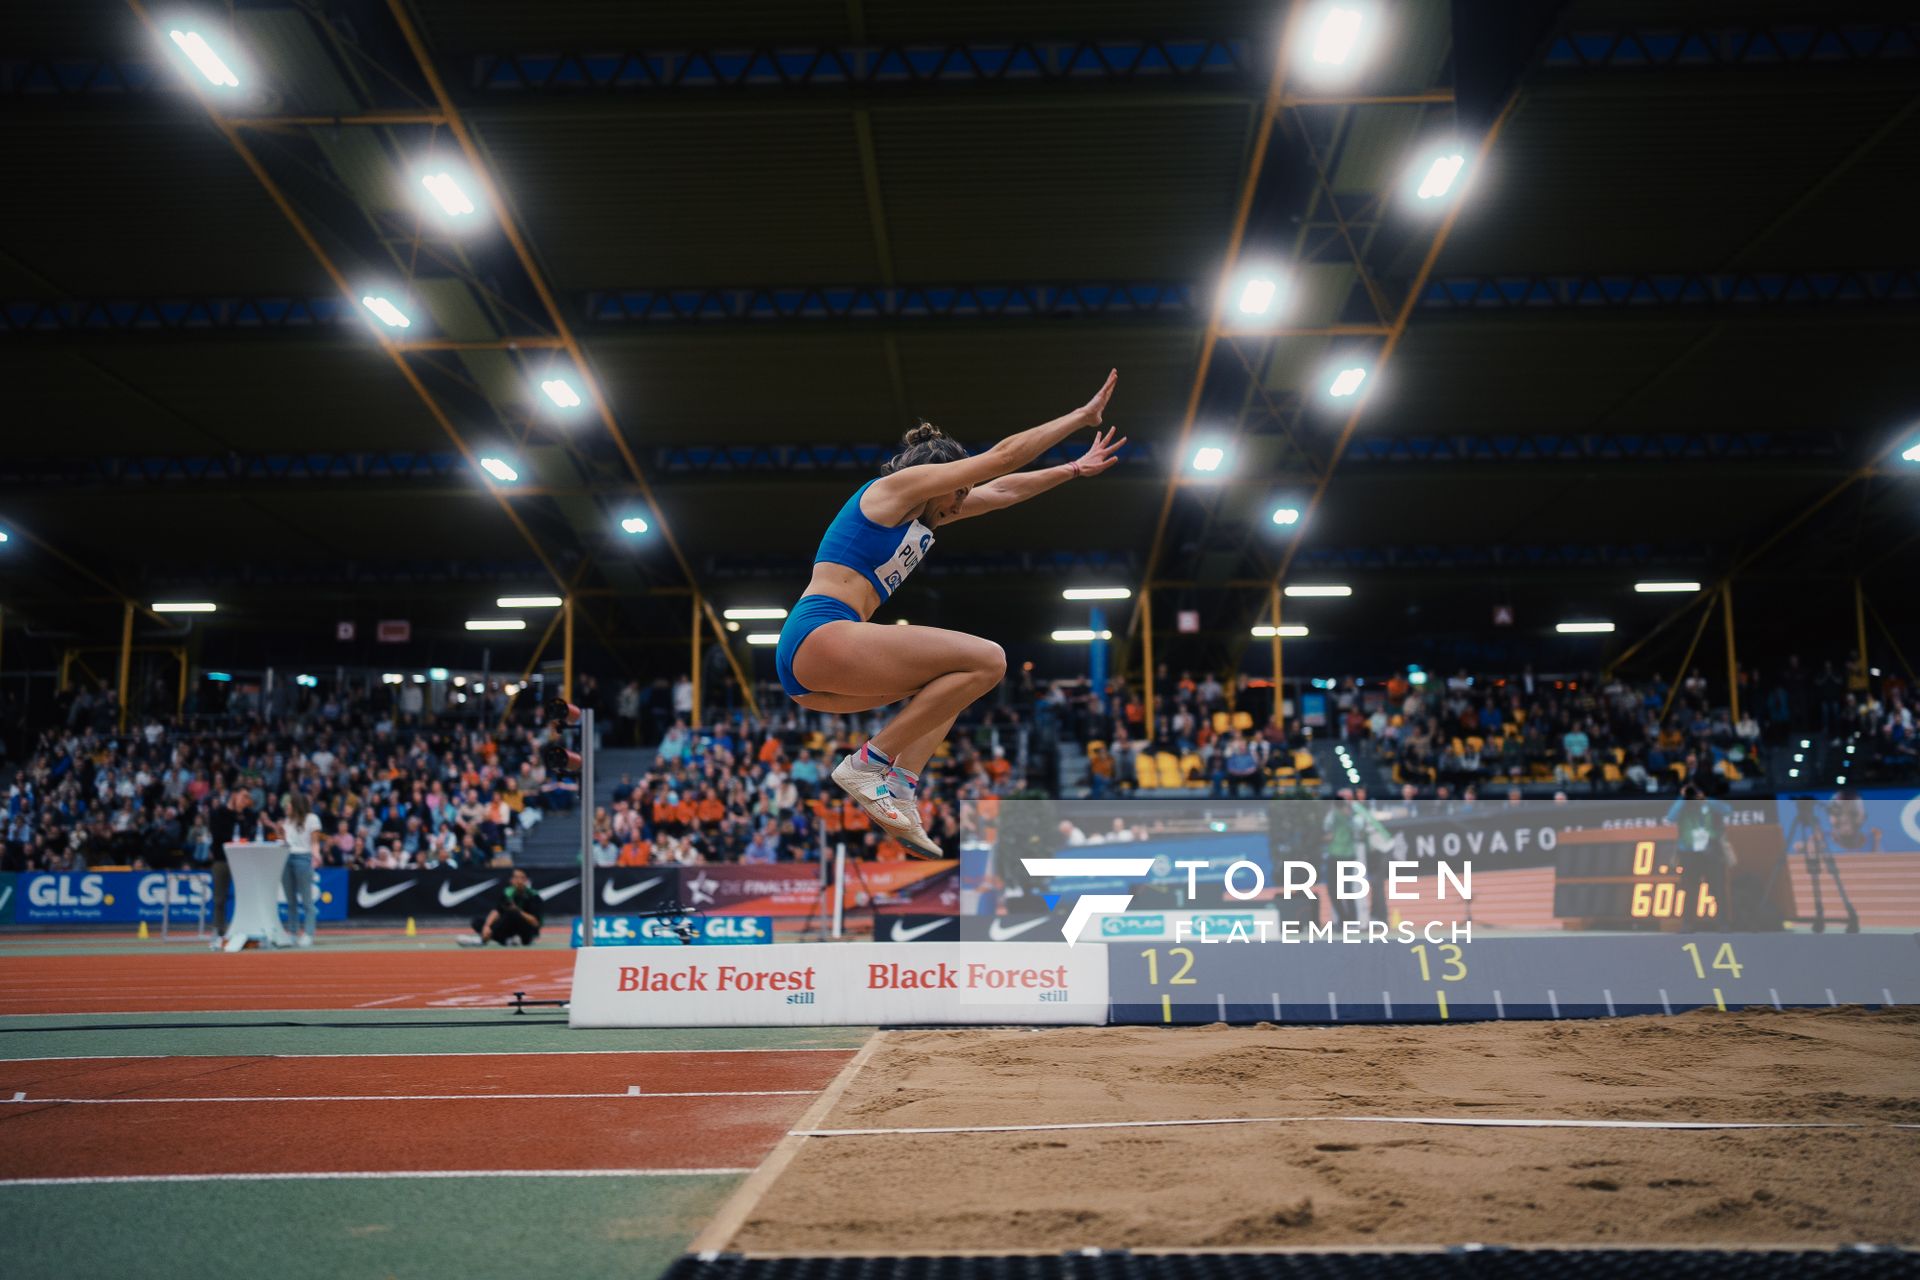
[[[1407,668],[1313,681],[1288,699],[1281,731],[1269,723],[1271,685],[1242,677],[1229,689],[1162,668],[1148,739],[1137,689],[1037,685],[1021,670],[954,727],[922,773],[918,802],[929,835],[956,850],[970,800],[1169,787],[1329,794],[1350,779],[1321,775],[1309,748],[1327,739],[1340,745],[1342,770],[1375,770],[1365,779],[1375,785],[1390,777],[1402,800],[1473,798],[1480,787],[1718,794],[1768,779],[1768,758],[1784,758],[1776,752],[1803,733],[1851,747],[1857,781],[1920,770],[1914,695],[1895,676],[1878,679],[1859,662],[1814,672],[1795,658],[1766,677],[1741,672],[1738,720],[1724,695],[1724,681],[1699,672],[1668,687],[1532,670],[1442,679]],[[791,708],[695,729],[684,677],[630,683],[607,702],[609,745],[651,739],[657,752],[595,808],[597,864],[806,860],[835,844],[851,856],[906,856],[828,779],[877,729],[876,716]],[[0,869],[207,864],[232,833],[278,831],[294,794],[321,821],[321,865],[501,865],[526,829],[576,802],[574,781],[541,764],[543,712],[532,706],[503,720],[436,718],[397,699],[342,695],[298,714],[240,712],[192,727],[150,720],[127,731],[111,712],[109,700],[73,700],[6,777]],[[1062,741],[1085,747],[1085,775],[1062,764],[1079,760]]]

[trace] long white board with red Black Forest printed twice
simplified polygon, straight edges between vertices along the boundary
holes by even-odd
[[[1106,948],[778,942],[574,952],[574,1027],[1083,1025],[1106,1021]]]

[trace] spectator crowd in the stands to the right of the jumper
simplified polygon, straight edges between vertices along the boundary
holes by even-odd
[[[1699,670],[1674,687],[1532,668],[1442,679],[1407,668],[1386,679],[1311,681],[1290,693],[1283,731],[1271,725],[1267,681],[1242,676],[1229,689],[1212,674],[1173,679],[1162,668],[1150,741],[1139,693],[1119,681],[1098,693],[1060,685],[1037,718],[1058,722],[1062,737],[1085,747],[1092,794],[1321,789],[1329,779],[1308,750],[1313,741],[1336,741],[1352,750],[1342,764],[1379,766],[1396,787],[1442,798],[1486,785],[1638,794],[1692,783],[1716,794],[1766,781],[1770,756],[1797,735],[1851,747],[1857,771],[1887,779],[1920,771],[1914,693],[1897,676],[1878,679],[1859,660],[1812,672],[1789,658],[1766,677],[1743,670],[1740,683],[1736,720],[1724,681]]]

